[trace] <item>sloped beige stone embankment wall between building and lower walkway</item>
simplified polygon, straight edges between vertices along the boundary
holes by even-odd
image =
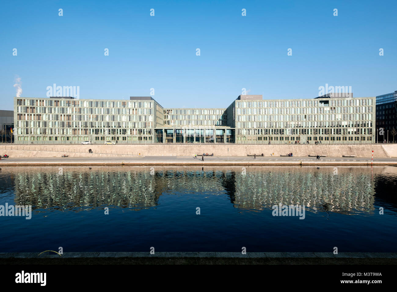
[[[93,153],[88,153],[92,149]],[[11,157],[191,157],[214,153],[218,157],[264,155],[276,157],[293,153],[296,157],[323,155],[327,157],[397,157],[397,144],[378,145],[244,145],[244,144],[151,144],[151,145],[0,145],[0,154]]]

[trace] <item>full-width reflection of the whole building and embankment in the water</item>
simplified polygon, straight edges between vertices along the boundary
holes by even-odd
[[[395,167],[299,167],[241,168],[161,168],[150,174],[145,167],[64,167],[7,168],[12,178],[15,205],[33,209],[82,211],[99,206],[118,206],[135,210],[155,207],[160,195],[226,194],[240,210],[260,211],[272,205],[305,205],[311,211],[355,213],[374,210],[374,186],[381,189],[385,176],[390,188],[396,185]],[[393,189],[393,188],[392,188]],[[389,192],[390,193],[390,192]],[[380,199],[391,202],[395,196]],[[393,201],[394,200],[394,201]]]

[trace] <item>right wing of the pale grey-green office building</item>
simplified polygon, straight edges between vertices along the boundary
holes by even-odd
[[[235,128],[237,143],[372,143],[375,98],[341,96],[346,94],[285,100],[242,95],[227,108],[227,125]]]

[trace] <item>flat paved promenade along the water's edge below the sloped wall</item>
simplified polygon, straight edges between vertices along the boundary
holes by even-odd
[[[7,158],[0,161],[0,166],[51,166],[51,165],[74,165],[74,166],[371,166],[371,158],[356,157],[227,157],[227,156],[146,156],[146,157],[32,157],[32,158]],[[376,165],[397,166],[397,158],[375,158]]]

